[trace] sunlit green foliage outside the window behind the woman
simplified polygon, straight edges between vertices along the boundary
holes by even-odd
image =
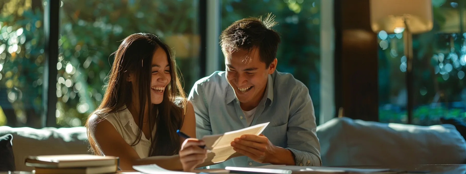
[[[104,78],[119,41],[153,33],[175,49],[185,91],[199,79],[197,0],[63,0],[60,12],[56,118],[63,127],[82,126],[102,100]],[[1,0],[3,65],[0,101],[3,124],[41,127],[44,66],[43,9],[38,0]],[[176,12],[176,13],[175,13]],[[15,36],[14,33],[21,35]],[[23,39],[24,38],[24,39]],[[24,41],[23,41],[24,40]],[[19,44],[18,44],[19,43]],[[14,52],[8,52],[10,46]],[[0,46],[3,48],[3,46]],[[53,88],[53,86],[52,86]],[[14,100],[13,100],[14,99]],[[7,116],[7,118],[5,118]],[[6,121],[5,121],[6,120]]]

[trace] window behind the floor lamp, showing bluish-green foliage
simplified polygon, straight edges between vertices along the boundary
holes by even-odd
[[[464,0],[432,0],[432,31],[413,36],[413,124],[440,117],[466,118],[466,31]],[[407,122],[403,34],[379,38],[379,119]]]

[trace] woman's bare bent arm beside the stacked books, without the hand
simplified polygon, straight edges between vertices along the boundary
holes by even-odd
[[[134,170],[132,166],[145,164],[157,164],[168,170],[182,169],[178,155],[139,158],[137,152],[123,140],[113,125],[100,116],[91,116],[88,127],[91,135],[88,138],[94,139],[104,155],[119,157],[121,170]]]

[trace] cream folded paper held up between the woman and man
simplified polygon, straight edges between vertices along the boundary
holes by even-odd
[[[206,148],[210,150],[209,154],[207,154],[206,161],[219,163],[231,157],[241,156],[233,150],[230,143],[233,142],[235,138],[241,137],[241,135],[260,135],[268,124],[269,122],[266,122],[244,129],[226,132],[224,134],[205,135],[202,137],[202,140],[206,142]]]

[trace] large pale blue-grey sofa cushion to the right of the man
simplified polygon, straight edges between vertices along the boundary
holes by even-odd
[[[334,118],[317,127],[322,165],[461,164],[466,142],[450,124],[417,126]]]

